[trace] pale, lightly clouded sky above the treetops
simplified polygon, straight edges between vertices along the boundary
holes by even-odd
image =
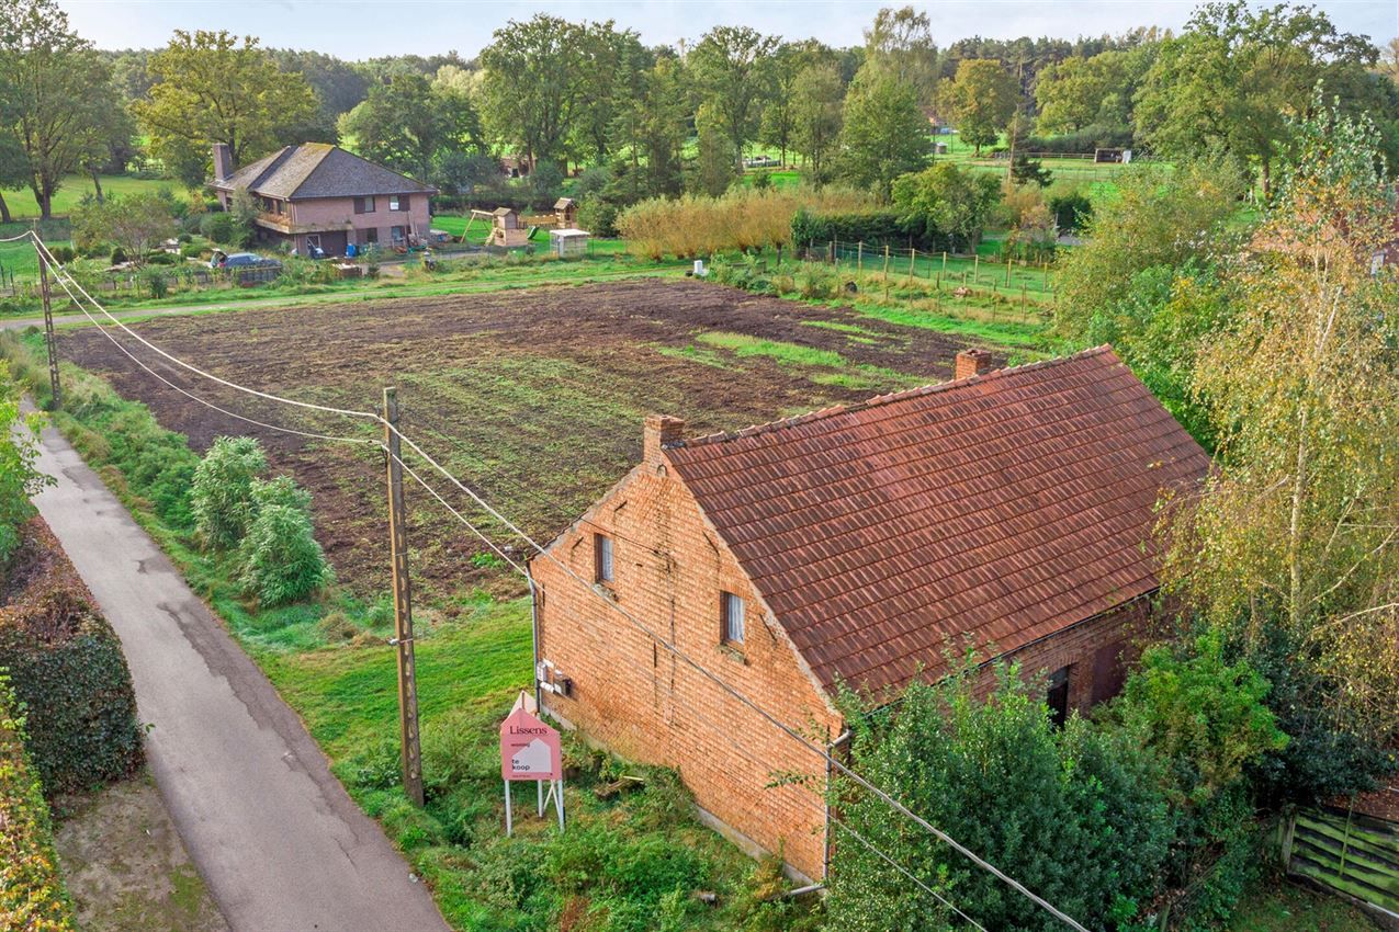
[[[473,57],[508,20],[550,13],[567,20],[616,20],[646,45],[694,41],[715,25],[748,25],[786,39],[832,46],[862,42],[883,6],[902,0],[59,0],[71,25],[101,49],[155,48],[173,29],[252,34],[264,46],[313,49],[343,59],[385,54]],[[912,3],[928,13],[946,46],[982,35],[1116,34],[1139,25],[1178,29],[1196,0],[940,0]],[[1315,6],[1346,32],[1384,46],[1399,36],[1399,0],[1322,0]]]

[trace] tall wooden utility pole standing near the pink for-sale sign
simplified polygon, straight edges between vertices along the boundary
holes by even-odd
[[[389,447],[389,556],[393,560],[393,640],[399,650],[399,738],[403,746],[403,792],[422,805],[422,748],[418,743],[418,679],[413,658],[413,597],[409,590],[409,534],[403,513],[403,461],[399,398],[383,390],[383,442]]]

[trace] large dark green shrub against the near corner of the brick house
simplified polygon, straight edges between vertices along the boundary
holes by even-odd
[[[894,711],[866,717],[852,708],[856,769],[876,785],[900,787],[915,812],[1090,926],[1129,918],[1154,893],[1171,841],[1157,760],[1126,735],[1079,718],[1053,728],[1020,671],[997,672],[999,687],[985,701],[972,678],[960,675],[940,687],[909,686]],[[837,781],[832,802],[845,812],[842,822],[932,889],[953,890],[986,928],[1059,928],[848,781]],[[926,918],[946,915],[936,900],[838,837],[832,928],[940,928]]]

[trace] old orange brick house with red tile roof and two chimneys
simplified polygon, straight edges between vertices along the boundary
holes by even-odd
[[[729,435],[648,418],[642,463],[530,563],[544,708],[820,878],[823,757],[607,601],[823,742],[842,683],[936,679],[953,646],[1046,673],[1058,714],[1115,693],[1160,585],[1154,506],[1205,451],[1107,347],[1002,370],[967,351],[956,376]]]

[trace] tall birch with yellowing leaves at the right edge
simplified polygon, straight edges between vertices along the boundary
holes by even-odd
[[[1168,585],[1256,646],[1273,627],[1337,687],[1336,721],[1399,732],[1399,281],[1368,119],[1318,102],[1238,270],[1195,390],[1219,468],[1170,524]]]

